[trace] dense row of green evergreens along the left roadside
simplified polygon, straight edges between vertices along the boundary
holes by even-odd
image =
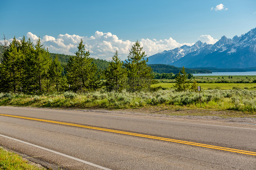
[[[35,45],[25,36],[20,41],[14,37],[10,45],[4,41],[0,53],[0,91],[44,94],[67,90],[83,93],[100,88],[130,92],[160,88],[151,88],[156,81],[138,40],[127,60],[121,61],[116,51],[108,65],[90,58],[82,39],[77,48],[74,56],[61,55],[61,62],[43,47],[40,38]],[[104,69],[97,67],[99,63]]]

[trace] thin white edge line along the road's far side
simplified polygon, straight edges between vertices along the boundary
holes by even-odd
[[[5,107],[5,106],[1,106]],[[8,107],[7,107],[8,108]],[[10,108],[10,107],[9,107]],[[20,107],[22,108],[22,107]],[[22,109],[29,109],[29,110],[42,110],[42,111],[49,111],[46,109],[30,109],[30,108],[22,108]],[[72,111],[61,111],[61,110],[55,110],[52,109],[51,111],[54,112],[68,112],[68,113],[81,113],[81,114],[87,114],[87,115],[95,115],[93,113],[83,113],[82,111],[77,111],[77,112],[72,112]],[[95,112],[97,113],[97,112]],[[124,117],[124,116],[116,116],[116,115],[104,115],[104,116],[113,116],[113,117]],[[138,118],[138,117],[126,117],[126,118],[131,118],[131,119],[143,119],[143,120],[156,120],[156,121],[163,121],[163,122],[174,122],[174,123],[188,123],[188,122],[178,122],[178,121],[171,121],[171,120],[157,120],[157,119],[145,119],[145,118]],[[252,128],[239,128],[239,127],[232,127],[232,126],[221,126],[221,125],[209,125],[209,124],[201,124],[201,123],[188,123],[188,124],[195,124],[195,125],[207,125],[207,126],[218,126],[218,127],[225,127],[225,128],[238,128],[238,129],[248,129],[248,130],[256,130]]]

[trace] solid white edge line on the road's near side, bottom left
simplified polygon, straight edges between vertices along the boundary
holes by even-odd
[[[29,144],[29,145],[31,145],[31,146],[38,147],[38,148],[43,149],[43,150],[47,150],[47,151],[49,151],[49,152],[53,152],[53,153],[56,153],[56,154],[58,154],[58,155],[62,155],[62,156],[65,156],[65,157],[74,159],[74,160],[76,160],[76,161],[79,161],[79,162],[82,162],[82,163],[86,163],[86,164],[91,165],[91,166],[95,166],[95,167],[100,168],[100,169],[111,170],[111,169],[105,168],[105,167],[103,167],[103,166],[99,166],[99,165],[96,165],[96,164],[94,164],[94,163],[90,163],[90,162],[84,161],[84,160],[82,160],[82,159],[78,159],[78,158],[75,158],[75,157],[73,157],[73,156],[66,155],[66,154],[64,154],[64,153],[60,153],[60,152],[56,152],[56,151],[54,151],[54,150],[47,149],[47,148],[45,148],[45,147],[40,147],[40,146],[38,146],[38,145],[31,144],[31,143],[28,143],[28,142],[24,142],[24,141],[21,141],[21,140],[15,139],[15,138],[11,138],[11,137],[9,137],[9,136],[4,136],[4,135],[1,135],[1,134],[0,134],[0,136],[3,136],[3,137],[5,137],[5,138],[9,138],[9,139],[13,139],[13,140],[15,140],[15,141],[22,142],[22,143],[24,143],[24,144]]]

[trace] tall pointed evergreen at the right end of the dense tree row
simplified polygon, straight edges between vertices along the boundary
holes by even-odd
[[[137,40],[124,63],[130,79],[129,91],[132,92],[150,89],[150,85],[155,83],[152,69],[147,66],[148,58],[145,60],[146,55],[142,48]]]

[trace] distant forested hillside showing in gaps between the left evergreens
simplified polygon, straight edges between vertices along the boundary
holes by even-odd
[[[58,56],[60,63],[64,66],[67,65],[69,58],[72,56],[72,55],[66,55],[66,54],[50,53],[51,58],[54,58],[55,55]],[[99,70],[104,70],[105,68],[107,68],[109,62],[99,58],[98,59],[93,58],[93,63],[97,65],[97,68]]]

